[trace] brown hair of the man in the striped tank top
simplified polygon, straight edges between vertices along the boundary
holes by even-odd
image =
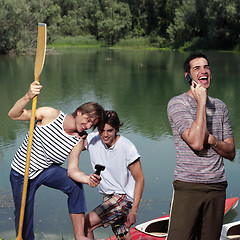
[[[87,102],[79,106],[73,113],[72,116],[75,118],[77,113],[88,114],[90,117],[97,118],[97,124],[93,125],[93,129],[104,123],[105,110],[97,102]]]

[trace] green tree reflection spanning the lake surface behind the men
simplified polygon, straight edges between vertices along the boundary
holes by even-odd
[[[61,55],[48,55],[40,79],[43,89],[38,106],[64,106],[71,113],[78,107],[75,103],[73,106],[73,101],[80,105],[94,100],[104,107],[111,105],[119,113],[126,130],[154,140],[172,135],[167,103],[173,96],[188,90],[182,69],[187,55],[109,49],[68,49]],[[208,54],[213,74],[209,94],[226,102],[235,138],[239,139],[237,56]],[[0,125],[3,142],[15,139],[16,128],[21,128],[19,123],[7,117],[7,112],[32,81],[33,63],[31,57],[16,57],[6,58],[0,65],[0,70],[4,68],[1,73],[5,74],[0,90],[6,100],[1,104],[4,113],[1,116],[4,124]],[[237,141],[236,144],[238,146]]]

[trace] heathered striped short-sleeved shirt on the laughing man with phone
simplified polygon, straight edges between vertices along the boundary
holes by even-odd
[[[226,181],[223,157],[210,145],[201,151],[193,150],[181,137],[196,119],[197,102],[184,93],[168,103],[168,118],[176,147],[175,179],[195,183]],[[208,97],[206,104],[207,129],[219,140],[233,137],[228,109],[221,100]]]

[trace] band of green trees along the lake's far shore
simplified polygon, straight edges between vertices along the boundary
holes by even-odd
[[[48,44],[83,36],[114,45],[146,38],[182,50],[240,49],[239,0],[1,0],[0,54],[36,44],[37,23]]]

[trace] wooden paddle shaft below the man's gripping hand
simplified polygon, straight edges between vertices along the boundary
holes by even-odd
[[[38,79],[38,81],[39,81],[39,79]],[[28,175],[29,175],[30,156],[31,156],[31,148],[32,148],[36,107],[37,107],[37,96],[35,96],[32,100],[32,113],[31,113],[31,120],[30,120],[30,127],[29,127],[27,156],[26,156],[25,174],[24,174],[23,191],[22,191],[21,211],[20,211],[20,217],[19,217],[18,235],[17,235],[16,240],[23,240],[22,229],[23,229],[24,212],[25,212],[25,205],[26,205],[26,198],[27,198]]]

